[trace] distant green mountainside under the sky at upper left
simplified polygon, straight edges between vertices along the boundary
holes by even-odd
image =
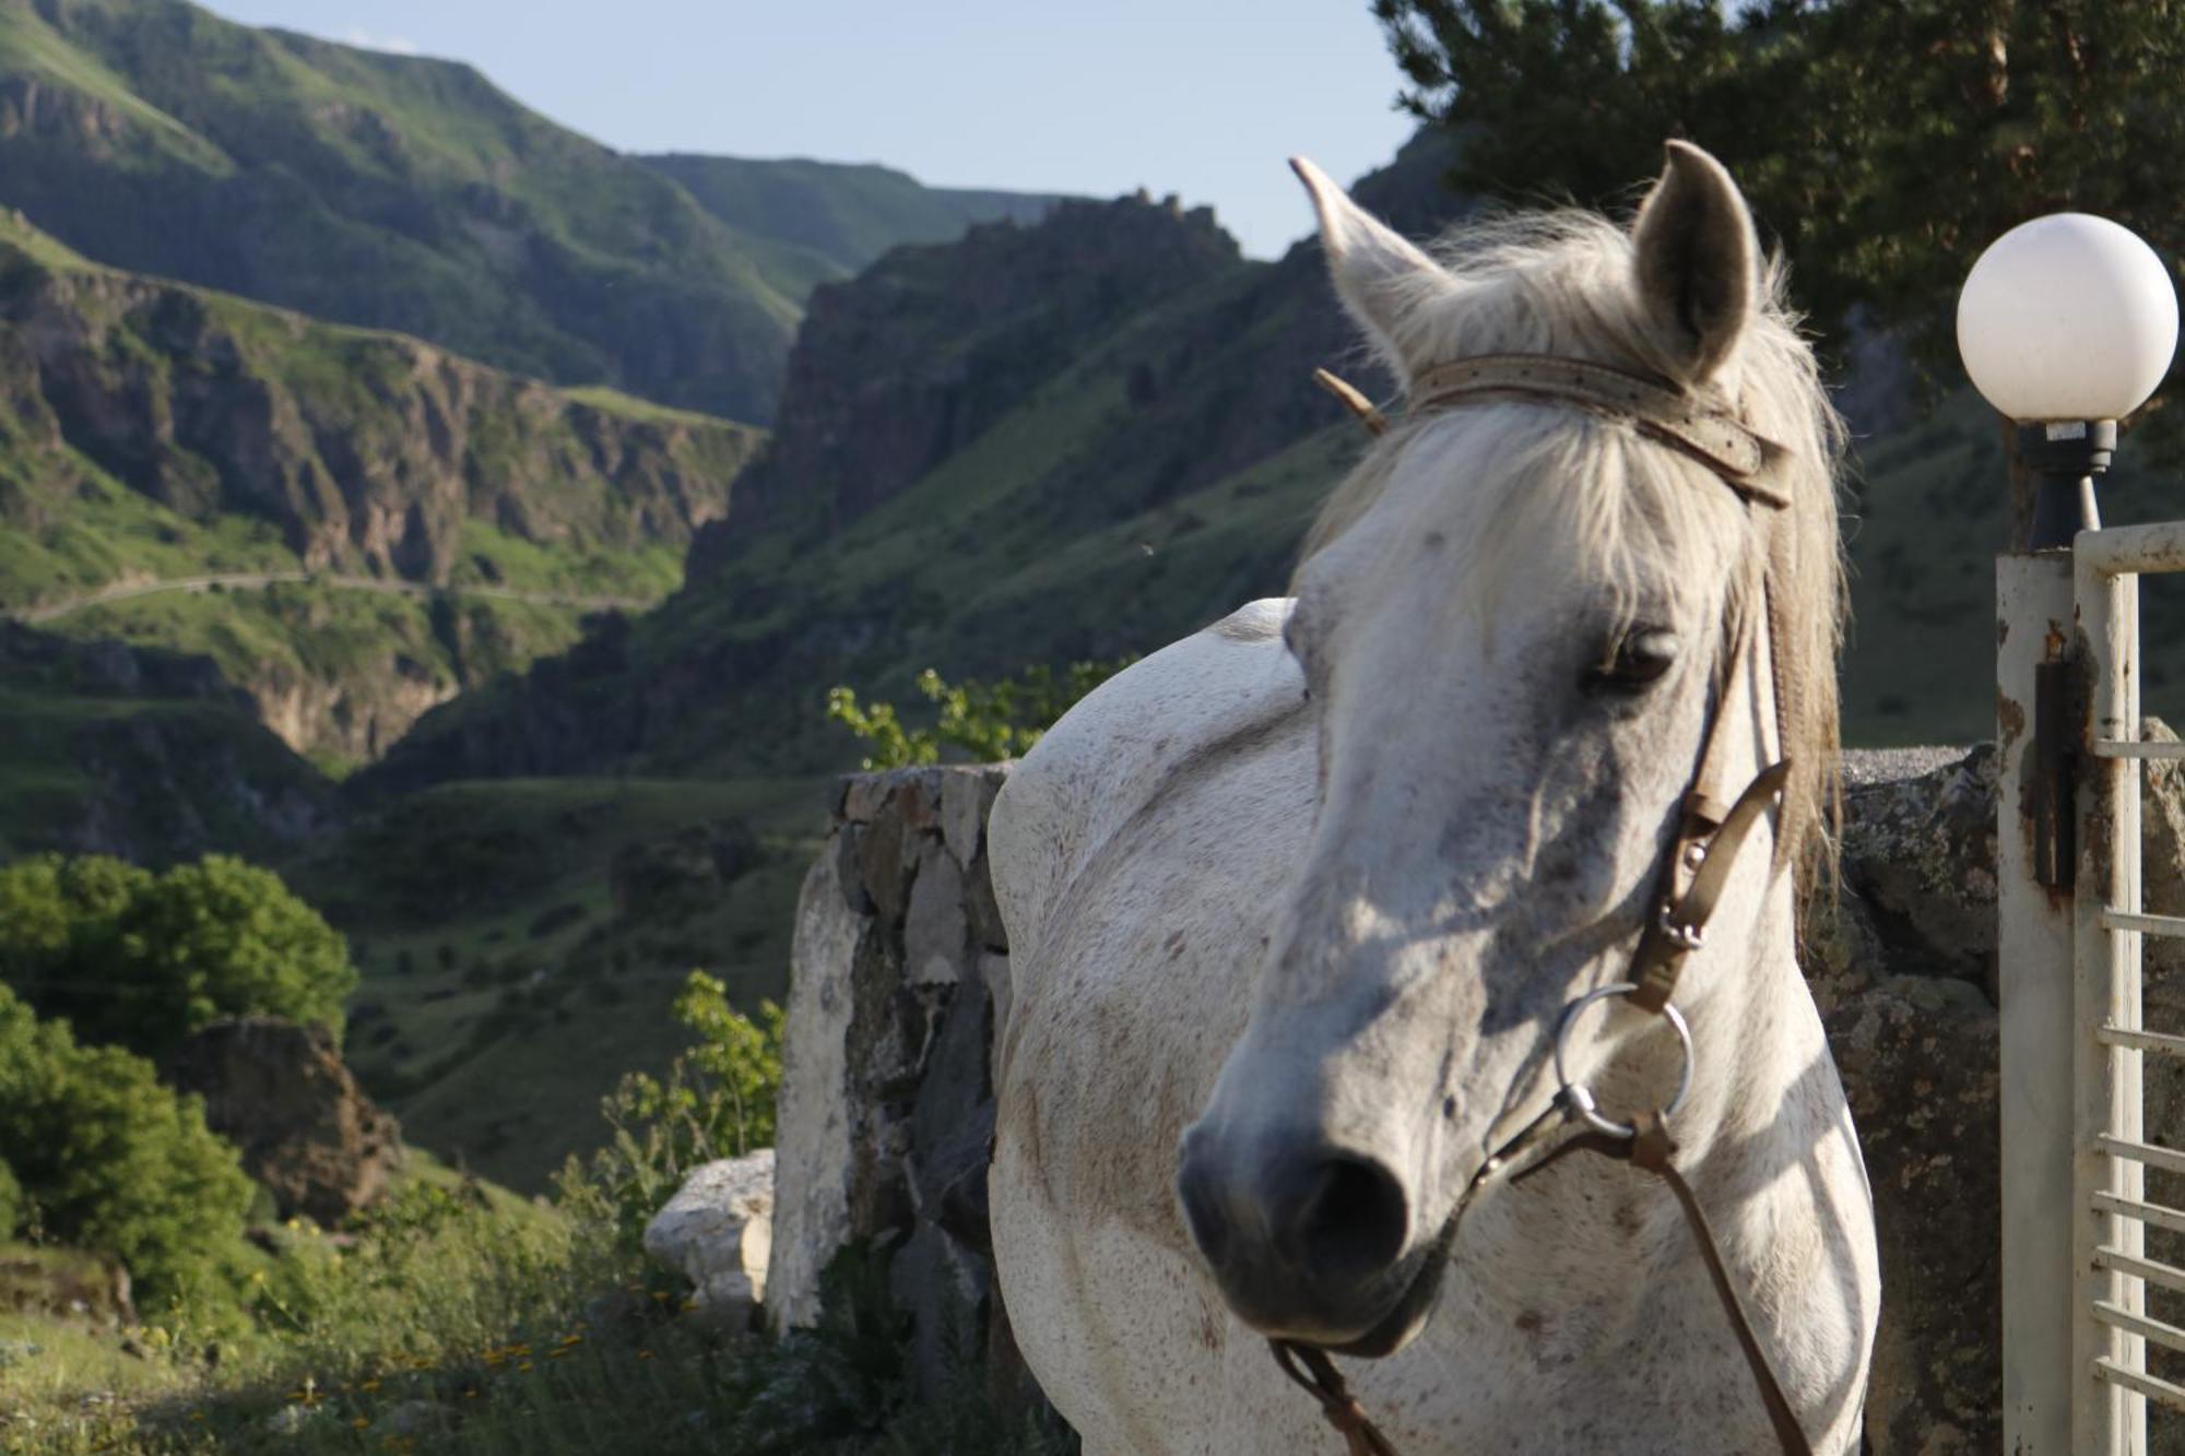
[[[103,262],[557,383],[767,420],[817,280],[889,227],[929,238],[950,212],[961,230],[1016,208],[907,199],[863,168],[837,203],[826,168],[780,164],[771,184],[769,166],[736,166],[756,210],[723,221],[470,66],[184,0],[0,0],[0,203]],[[767,221],[767,188],[802,216]]]

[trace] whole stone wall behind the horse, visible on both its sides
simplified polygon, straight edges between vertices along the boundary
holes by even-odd
[[[1805,964],[1881,1237],[1868,1441],[1875,1456],[1995,1452],[1995,752],[1851,754],[1846,767],[1842,885],[1809,916]],[[983,1178],[988,1041],[1007,1014],[983,822],[1003,772],[846,780],[798,918],[767,1307],[778,1327],[811,1320],[843,1242],[896,1242],[926,1379],[950,1331],[985,1329],[990,1351],[1014,1358],[990,1299]],[[2148,907],[2185,912],[2185,767],[2150,770],[2143,822]],[[2150,944],[2152,1025],[2185,1023],[2178,951]],[[2185,1093],[2150,1069],[2150,1141],[2174,1143],[2174,1108]]]

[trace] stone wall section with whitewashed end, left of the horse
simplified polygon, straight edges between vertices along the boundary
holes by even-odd
[[[1007,1014],[1007,938],[985,872],[1003,767],[848,778],[804,879],[776,1132],[767,1318],[806,1325],[852,1240],[894,1246],[913,1373],[990,1323],[988,1047]]]

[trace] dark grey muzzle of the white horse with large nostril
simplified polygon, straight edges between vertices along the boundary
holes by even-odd
[[[1221,1299],[1252,1329],[1355,1355],[1403,1347],[1433,1305],[1442,1240],[1379,1159],[1318,1137],[1184,1132],[1176,1194]]]

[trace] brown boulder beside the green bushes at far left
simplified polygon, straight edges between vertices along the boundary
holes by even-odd
[[[400,1124],[365,1097],[326,1028],[214,1021],[168,1056],[162,1078],[205,1100],[205,1126],[236,1146],[282,1218],[332,1229],[402,1165]]]

